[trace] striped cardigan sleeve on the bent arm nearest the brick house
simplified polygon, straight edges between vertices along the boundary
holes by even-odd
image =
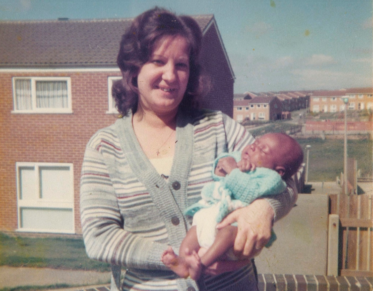
[[[91,259],[131,268],[162,269],[166,244],[134,235],[122,227],[114,188],[102,154],[87,146],[81,174],[83,239]]]

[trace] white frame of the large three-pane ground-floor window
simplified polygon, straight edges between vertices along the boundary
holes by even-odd
[[[34,168],[35,174],[35,197],[34,199],[21,199],[21,177],[20,168]],[[48,200],[38,197],[40,193],[40,167],[69,167],[70,171],[70,189],[71,197],[70,201],[67,200]],[[39,162],[16,162],[16,181],[17,181],[17,217],[18,217],[18,229],[17,231],[27,232],[50,232],[58,234],[75,234],[75,207],[74,207],[74,165],[72,163],[39,163]],[[22,209],[43,209],[43,210],[71,210],[72,211],[72,228],[70,230],[54,230],[54,229],[39,229],[39,228],[25,228],[22,227]]]

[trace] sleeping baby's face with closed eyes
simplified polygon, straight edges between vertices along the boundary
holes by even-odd
[[[257,167],[275,169],[280,148],[281,143],[276,136],[266,134],[246,146],[241,153],[241,159],[248,159]]]

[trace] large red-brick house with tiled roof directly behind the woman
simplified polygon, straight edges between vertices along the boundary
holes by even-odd
[[[194,17],[213,88],[230,116],[234,74],[213,15]],[[131,19],[0,22],[0,231],[81,234],[85,145],[115,122],[119,41]]]

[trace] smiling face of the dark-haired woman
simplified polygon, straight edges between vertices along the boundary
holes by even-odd
[[[180,36],[164,36],[154,43],[150,59],[137,76],[138,110],[177,111],[189,80],[189,44]]]

